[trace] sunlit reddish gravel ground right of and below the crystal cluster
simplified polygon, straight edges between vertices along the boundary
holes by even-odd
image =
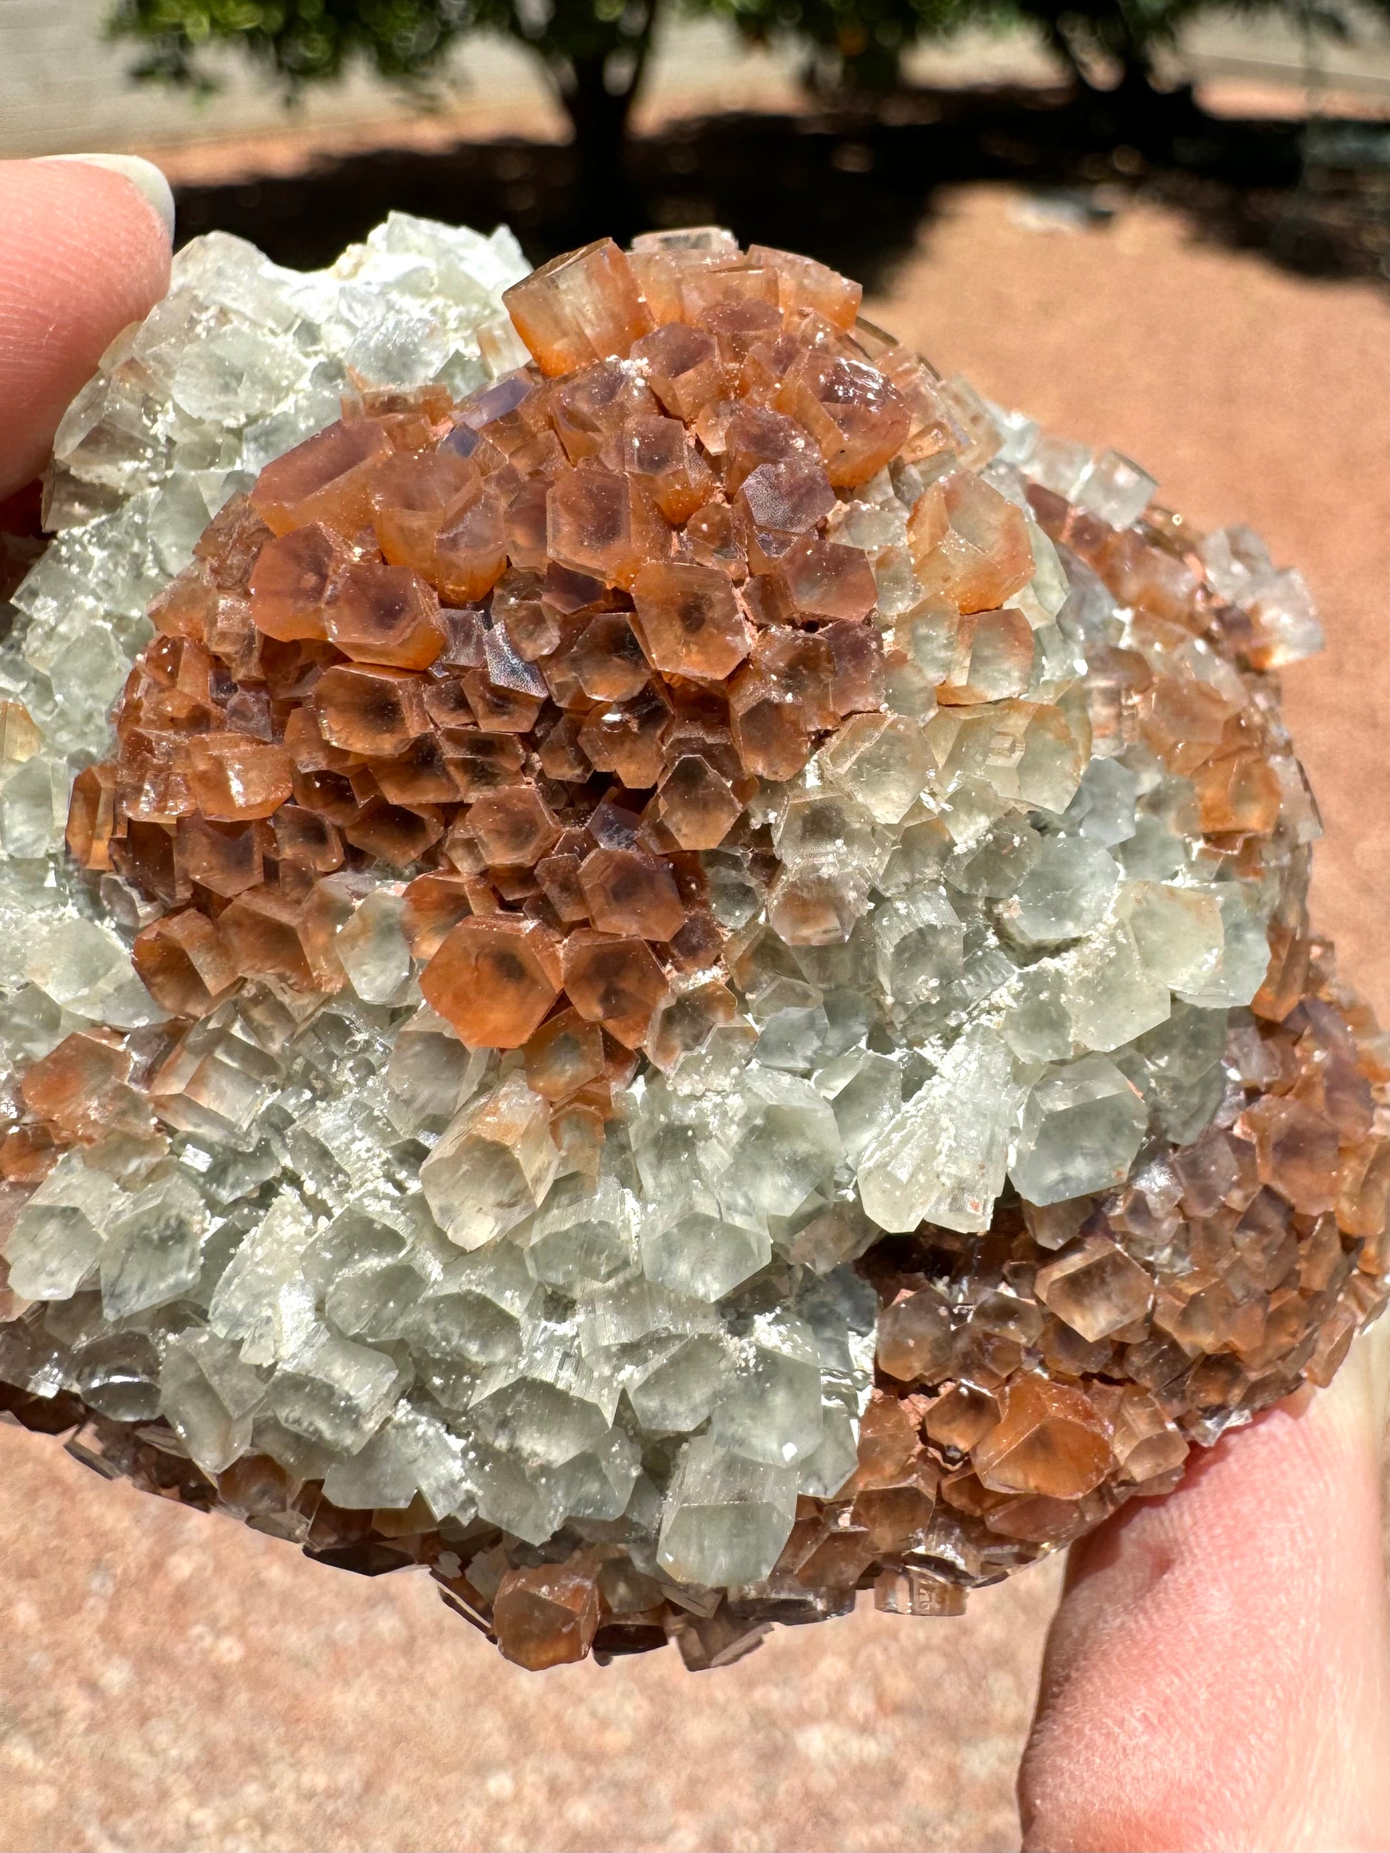
[[[1040,233],[951,195],[869,313],[1197,524],[1299,563],[1327,654],[1288,678],[1323,804],[1318,919],[1390,1010],[1390,306],[1136,206]],[[532,1677],[413,1575],[376,1582],[106,1486],[0,1429],[0,1849],[1003,1849],[1060,1566],[958,1621],[790,1631]]]

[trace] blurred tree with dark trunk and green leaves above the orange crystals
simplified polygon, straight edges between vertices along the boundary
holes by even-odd
[[[513,39],[539,57],[563,106],[588,222],[630,217],[623,152],[662,0],[117,0],[107,30],[143,44],[133,76],[215,89],[206,54],[232,46],[289,98],[365,63],[421,98],[471,33]]]

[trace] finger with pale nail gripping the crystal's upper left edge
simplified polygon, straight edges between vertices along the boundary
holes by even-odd
[[[169,287],[163,174],[95,159],[113,165],[0,161],[0,500],[43,469],[102,352]]]

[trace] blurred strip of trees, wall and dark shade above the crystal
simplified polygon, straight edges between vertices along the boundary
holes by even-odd
[[[964,182],[1390,261],[1390,0],[0,0],[0,154],[133,150],[328,261],[389,208],[534,259],[717,219],[882,284]]]

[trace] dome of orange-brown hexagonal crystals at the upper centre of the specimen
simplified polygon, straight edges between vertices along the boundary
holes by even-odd
[[[385,863],[413,875],[430,1004],[473,1047],[524,1047],[549,1099],[600,1099],[619,1051],[669,1065],[732,1015],[715,978],[652,1040],[673,978],[721,956],[699,852],[828,732],[862,717],[856,752],[895,726],[906,660],[864,550],[827,534],[836,491],[969,461],[982,430],[858,298],[727,235],[604,241],[508,293],[536,365],[461,404],[345,402],[222,510],[69,821],[85,869],[159,906],[133,958],[167,1010],[248,977],[341,986],[330,876]],[[1017,508],[945,473],[910,548],[967,613],[960,700],[986,654],[1030,660],[997,610],[1032,573]],[[843,938],[825,880],[764,875],[782,938]]]

